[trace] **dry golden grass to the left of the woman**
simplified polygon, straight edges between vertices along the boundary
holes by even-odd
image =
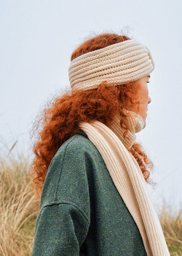
[[[0,161],[0,255],[31,255],[37,214],[27,161]]]

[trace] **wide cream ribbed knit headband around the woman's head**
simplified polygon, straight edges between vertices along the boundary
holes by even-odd
[[[72,90],[98,88],[136,81],[154,69],[150,51],[135,40],[126,40],[83,54],[71,61],[69,80]]]

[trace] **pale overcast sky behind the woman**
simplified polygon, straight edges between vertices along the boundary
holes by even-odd
[[[182,208],[182,1],[0,1],[0,149],[30,155],[29,129],[50,94],[69,86],[72,51],[89,35],[125,33],[151,51],[152,102],[138,140],[152,159],[154,204]]]

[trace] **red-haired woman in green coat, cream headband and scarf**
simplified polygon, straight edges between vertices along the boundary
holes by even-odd
[[[169,255],[146,188],[152,163],[135,142],[153,68],[126,36],[99,35],[73,52],[71,92],[45,110],[34,146],[33,256]]]

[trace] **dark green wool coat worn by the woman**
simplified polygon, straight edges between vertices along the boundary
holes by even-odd
[[[139,229],[94,144],[80,131],[44,182],[32,256],[146,256]]]

